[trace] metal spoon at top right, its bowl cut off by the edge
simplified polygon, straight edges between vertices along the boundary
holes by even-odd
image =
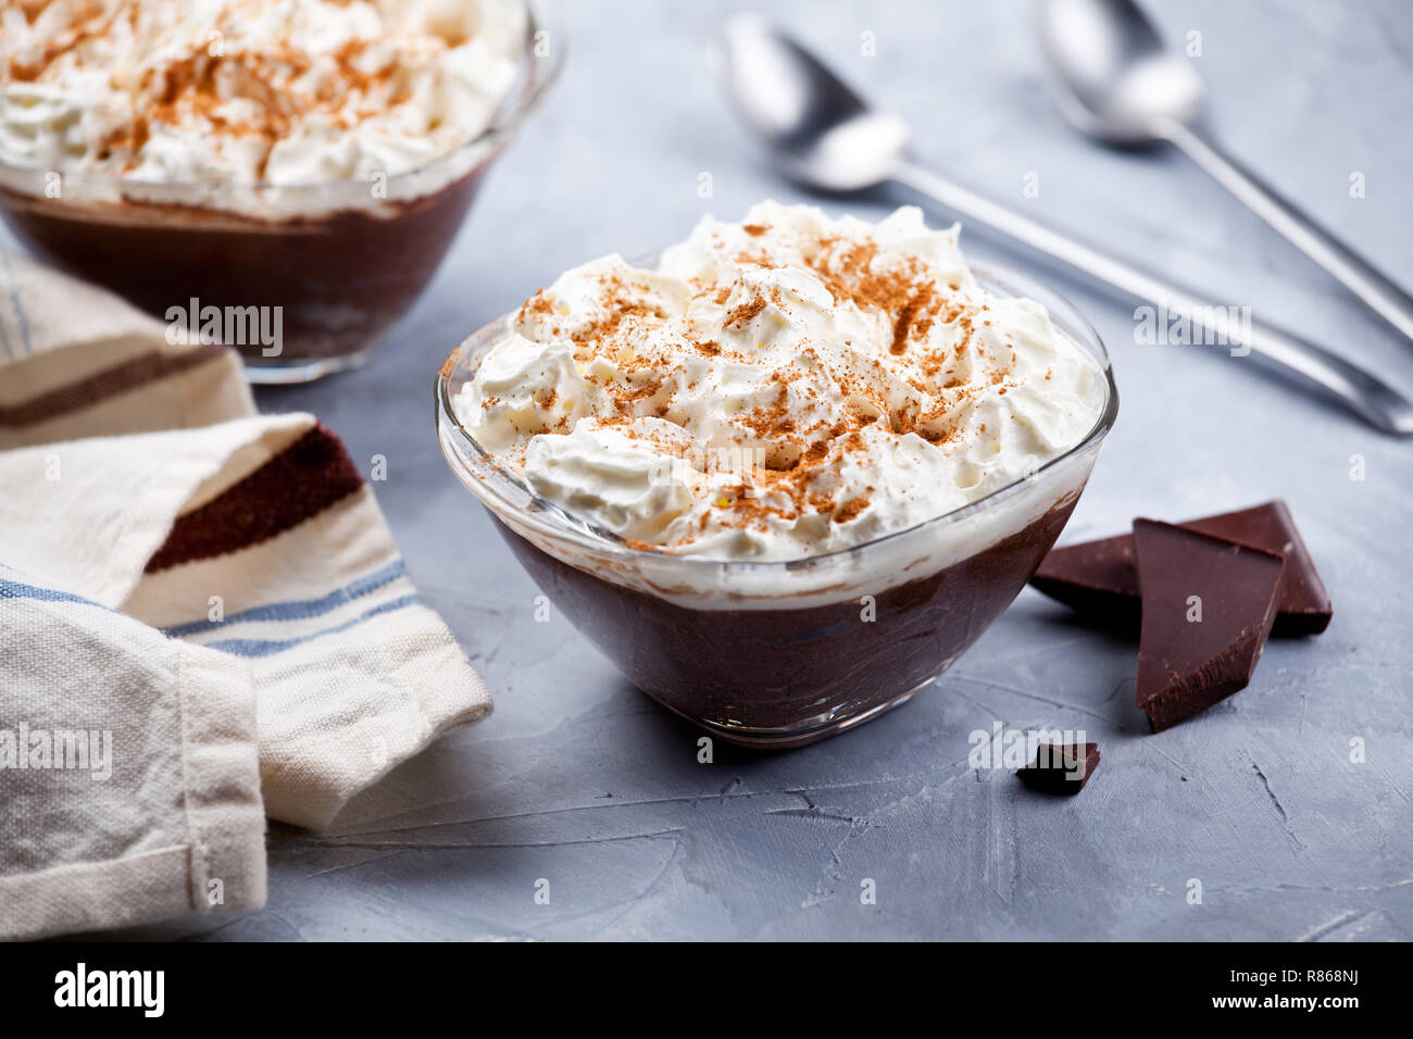
[[[1171,141],[1385,321],[1413,339],[1413,298],[1243,168],[1202,126],[1202,83],[1163,47],[1132,0],[1044,0],[1040,40],[1060,88],[1060,110],[1113,144]]]

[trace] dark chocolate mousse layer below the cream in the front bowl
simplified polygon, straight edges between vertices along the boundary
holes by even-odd
[[[642,691],[729,742],[801,746],[904,703],[1024,587],[1074,509],[873,597],[698,609],[571,565],[497,523],[557,609]]]

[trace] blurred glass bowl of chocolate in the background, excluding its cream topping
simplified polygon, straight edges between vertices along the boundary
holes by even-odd
[[[239,349],[250,382],[357,368],[431,281],[487,167],[560,72],[558,23],[526,6],[521,71],[490,124],[415,170],[281,187],[0,161],[0,211],[31,253]]]

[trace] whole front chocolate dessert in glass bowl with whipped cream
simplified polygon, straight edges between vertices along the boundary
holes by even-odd
[[[909,208],[708,218],[493,328],[442,372],[454,469],[636,686],[749,745],[951,664],[1054,543],[1115,404],[1098,344]]]

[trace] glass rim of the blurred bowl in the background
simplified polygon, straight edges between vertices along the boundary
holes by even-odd
[[[396,174],[389,174],[389,184],[398,184],[407,180],[425,177],[428,174],[437,172],[444,165],[452,165],[454,163],[462,160],[468,153],[476,150],[493,150],[506,141],[510,136],[520,129],[520,126],[528,119],[540,105],[544,103],[545,96],[550,93],[550,88],[554,86],[555,81],[560,78],[560,72],[564,68],[564,33],[562,23],[550,0],[520,0],[524,4],[527,20],[526,20],[526,37],[524,37],[524,57],[521,59],[521,71],[517,71],[517,82],[510,88],[504,98],[500,99],[495,115],[486,127],[478,133],[475,137],[469,137],[461,144],[455,146],[451,151],[442,153],[421,165],[413,167],[411,170],[403,170]],[[536,35],[541,31],[551,34],[554,44],[551,47],[550,55],[545,58],[538,58],[534,55],[533,47],[536,42]],[[211,199],[213,196],[222,196],[236,192],[278,192],[280,195],[304,195],[314,192],[328,192],[329,189],[367,189],[367,180],[359,178],[343,178],[336,181],[308,181],[298,184],[276,184],[273,181],[157,181],[138,177],[123,177],[120,174],[93,171],[93,170],[52,170],[49,167],[28,165],[25,163],[11,163],[0,157],[0,170],[6,172],[14,172],[20,175],[48,175],[52,172],[59,174],[64,181],[73,181],[78,184],[92,184],[99,187],[114,187],[122,192],[124,187],[134,189],[141,188],[158,188],[162,192],[182,194],[189,192],[192,195],[199,195],[202,199]]]

